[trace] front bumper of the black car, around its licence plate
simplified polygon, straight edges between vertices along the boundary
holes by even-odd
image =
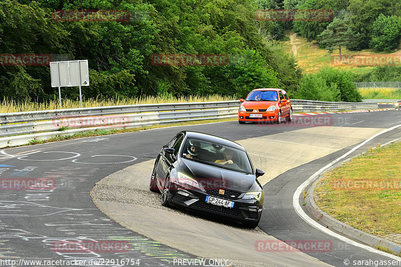
[[[210,194],[202,190],[191,190],[188,188],[170,188],[168,200],[170,204],[185,207],[201,213],[212,214],[219,217],[229,217],[238,221],[256,221],[259,220],[263,210],[263,195],[260,201],[255,199],[231,199],[217,194]],[[215,196],[218,198],[234,201],[234,207],[224,207],[206,202],[206,196]],[[242,194],[243,195],[243,194]],[[242,196],[241,195],[241,196]]]

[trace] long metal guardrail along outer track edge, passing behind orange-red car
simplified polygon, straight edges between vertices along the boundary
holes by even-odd
[[[294,112],[377,109],[377,103],[291,100]],[[240,101],[144,104],[0,114],[0,147],[87,130],[234,118]]]

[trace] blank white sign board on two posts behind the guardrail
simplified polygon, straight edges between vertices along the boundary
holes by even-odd
[[[61,87],[79,86],[79,100],[82,108],[81,86],[89,86],[88,60],[55,61],[50,62],[50,78],[52,87],[59,88],[61,104]]]

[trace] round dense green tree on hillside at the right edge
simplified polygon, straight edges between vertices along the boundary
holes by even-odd
[[[390,51],[399,45],[401,38],[401,18],[380,14],[374,21],[370,47],[377,51]]]

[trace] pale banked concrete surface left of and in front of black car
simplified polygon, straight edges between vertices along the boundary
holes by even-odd
[[[97,182],[91,190],[95,205],[122,226],[199,258],[226,258],[231,266],[328,266],[300,251],[258,252],[258,240],[283,243],[258,227],[161,206],[160,194],[148,188],[153,164],[141,162]]]

